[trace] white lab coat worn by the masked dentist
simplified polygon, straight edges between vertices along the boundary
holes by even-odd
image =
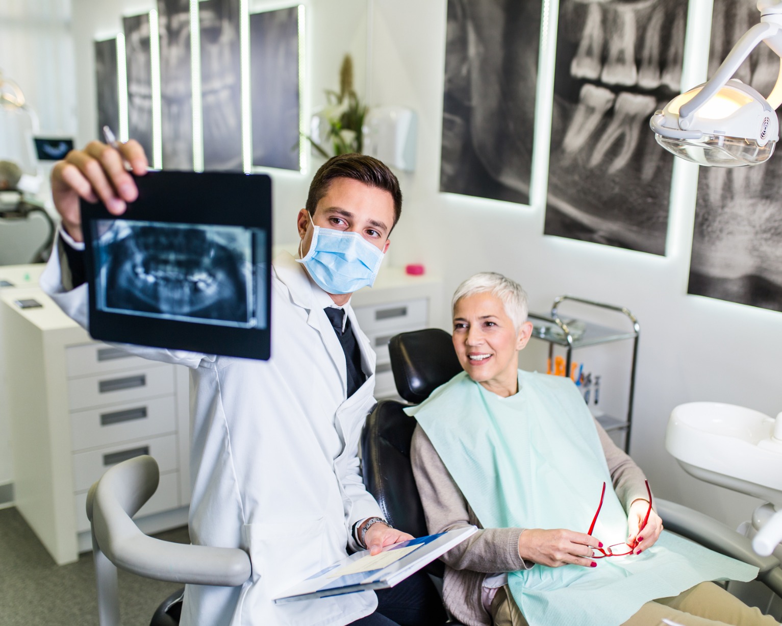
[[[87,286],[63,292],[56,251],[41,286],[84,324]],[[346,556],[348,545],[356,549],[353,524],[382,515],[357,458],[375,375],[346,399],[345,355],[323,311],[329,303],[303,266],[281,254],[269,361],[132,348],[191,368],[192,542],[246,549],[253,564],[242,587],[188,585],[182,626],[343,626],[377,606],[374,592],[271,601]],[[345,309],[364,371],[375,372],[375,353]]]

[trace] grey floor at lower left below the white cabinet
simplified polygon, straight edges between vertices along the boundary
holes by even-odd
[[[189,542],[188,529],[157,535]],[[157,606],[181,588],[120,572],[120,611],[124,626],[149,626]],[[16,509],[0,510],[0,624],[2,626],[84,626],[97,624],[95,573],[90,553],[58,566]]]

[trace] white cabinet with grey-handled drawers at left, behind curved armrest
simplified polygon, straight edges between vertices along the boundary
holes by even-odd
[[[16,300],[40,308],[22,309]],[[92,341],[38,289],[0,293],[16,507],[57,563],[89,549],[84,510],[109,466],[140,454],[160,487],[138,512],[146,532],[187,523],[188,372]]]

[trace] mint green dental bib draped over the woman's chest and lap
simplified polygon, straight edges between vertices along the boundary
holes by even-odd
[[[612,489],[603,448],[572,381],[518,372],[519,392],[500,398],[465,372],[407,408],[425,431],[484,527],[567,528],[627,538],[627,516]],[[752,580],[757,568],[663,532],[640,555],[597,567],[546,567],[508,574],[530,626],[619,626],[655,598],[711,580]]]

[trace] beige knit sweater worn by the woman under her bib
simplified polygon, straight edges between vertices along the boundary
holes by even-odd
[[[616,495],[627,510],[633,500],[647,498],[644,473],[617,448],[597,421],[595,425]],[[522,528],[482,527],[421,426],[416,426],[413,434],[411,462],[429,533],[468,525],[482,529],[440,557],[446,565],[443,600],[450,613],[466,626],[491,626],[491,617],[482,605],[483,579],[486,574],[532,567],[518,554]]]

